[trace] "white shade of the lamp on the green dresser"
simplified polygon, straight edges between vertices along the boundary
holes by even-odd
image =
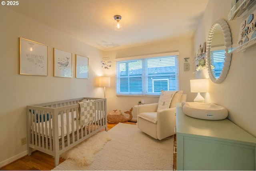
[[[191,93],[205,93],[208,92],[208,79],[190,80]]]

